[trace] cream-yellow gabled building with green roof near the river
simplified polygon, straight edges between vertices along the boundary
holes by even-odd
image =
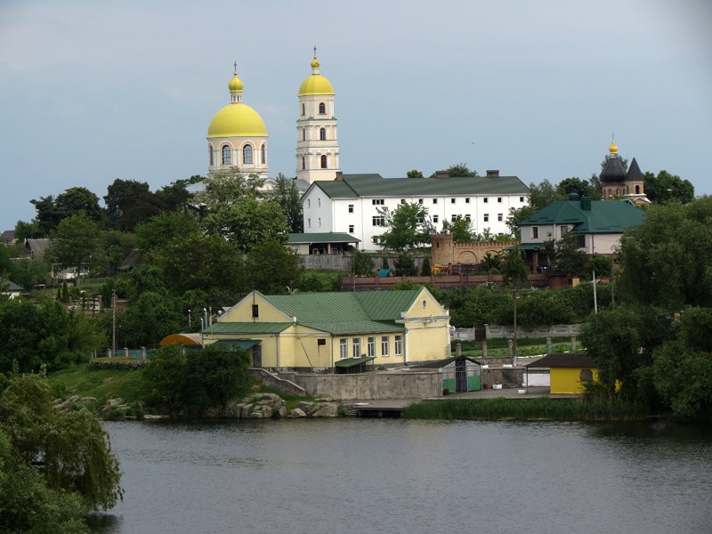
[[[395,367],[449,356],[449,312],[410,291],[263,295],[253,291],[203,330],[204,344],[239,346],[254,367],[331,371]]]

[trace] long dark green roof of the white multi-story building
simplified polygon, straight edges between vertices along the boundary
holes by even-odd
[[[314,182],[312,187],[319,187],[329,198],[494,196],[529,193],[529,188],[516,176],[384,178],[380,174],[342,174],[340,180]]]

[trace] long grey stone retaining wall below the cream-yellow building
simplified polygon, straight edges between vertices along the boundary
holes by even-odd
[[[439,371],[387,371],[354,375],[283,373],[312,397],[341,401],[425,399],[442,396]]]

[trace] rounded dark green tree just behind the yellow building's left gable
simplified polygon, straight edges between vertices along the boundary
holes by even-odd
[[[299,286],[302,258],[276,239],[268,239],[247,253],[247,279],[252,287],[268,295],[283,295]]]

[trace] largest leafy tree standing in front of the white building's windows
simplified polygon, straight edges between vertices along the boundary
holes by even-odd
[[[430,243],[433,224],[428,218],[427,208],[422,204],[399,204],[393,211],[382,208],[378,213],[384,217],[387,230],[374,237],[376,244],[403,251]]]

